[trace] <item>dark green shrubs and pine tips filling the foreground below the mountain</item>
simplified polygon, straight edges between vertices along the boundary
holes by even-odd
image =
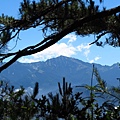
[[[6,82],[0,83],[0,119],[3,120],[118,120],[120,119],[120,88],[107,88],[100,78],[96,68],[93,75],[98,84],[84,86],[89,90],[89,96],[83,97],[82,91],[73,92],[71,84],[63,78],[63,85],[58,83],[59,91],[56,94],[38,98],[38,83],[33,93],[25,93],[21,87],[15,91]],[[92,94],[91,94],[92,91]],[[114,93],[113,93],[114,91]],[[109,100],[106,100],[106,96]],[[100,104],[99,99],[103,102]]]

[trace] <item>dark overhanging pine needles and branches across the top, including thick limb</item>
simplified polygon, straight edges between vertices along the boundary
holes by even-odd
[[[23,0],[19,7],[19,17],[0,16],[0,72],[22,56],[41,52],[55,44],[67,34],[74,32],[79,36],[94,34],[91,44],[113,47],[120,46],[120,5],[106,9],[100,8],[104,0],[96,4],[94,0]],[[111,1],[112,2],[112,1]],[[32,46],[16,52],[5,52],[7,44],[19,39],[21,31],[41,27],[44,38]],[[101,37],[107,35],[104,41]]]

